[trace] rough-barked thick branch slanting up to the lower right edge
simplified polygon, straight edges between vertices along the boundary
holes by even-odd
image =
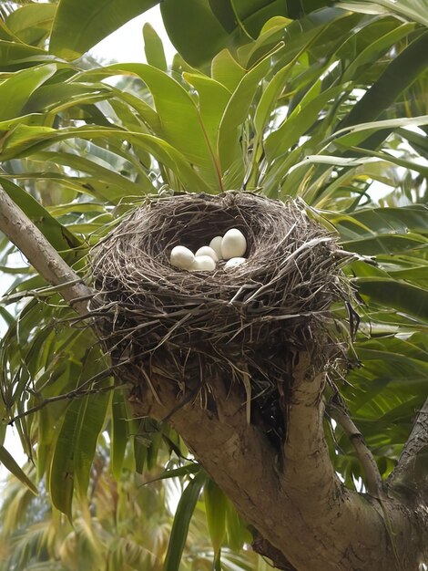
[[[388,480],[388,491],[428,504],[428,399],[413,424],[397,466]]]

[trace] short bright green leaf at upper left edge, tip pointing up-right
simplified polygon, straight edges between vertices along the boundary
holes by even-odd
[[[56,72],[54,64],[17,71],[0,84],[0,120],[13,119],[22,114],[25,103],[36,88]]]

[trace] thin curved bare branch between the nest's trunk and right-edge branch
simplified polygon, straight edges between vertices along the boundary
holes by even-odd
[[[373,458],[372,452],[367,447],[362,433],[357,429],[353,423],[347,410],[344,410],[340,405],[329,402],[326,407],[327,412],[333,420],[341,426],[341,429],[352,441],[352,446],[357,452],[357,456],[362,463],[365,472],[367,492],[375,498],[381,499],[385,496],[382,488],[381,472]]]

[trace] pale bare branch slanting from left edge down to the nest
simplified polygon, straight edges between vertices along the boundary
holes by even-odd
[[[0,230],[25,254],[49,284],[61,285],[61,295],[80,315],[87,314],[93,291],[56,252],[46,237],[0,186]]]

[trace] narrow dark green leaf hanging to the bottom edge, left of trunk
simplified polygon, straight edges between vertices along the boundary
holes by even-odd
[[[190,480],[185,491],[181,494],[177,512],[174,517],[174,523],[172,524],[163,571],[178,571],[184,545],[186,545],[190,519],[198,502],[202,486],[206,480],[207,474],[203,471],[198,472],[193,480]]]

